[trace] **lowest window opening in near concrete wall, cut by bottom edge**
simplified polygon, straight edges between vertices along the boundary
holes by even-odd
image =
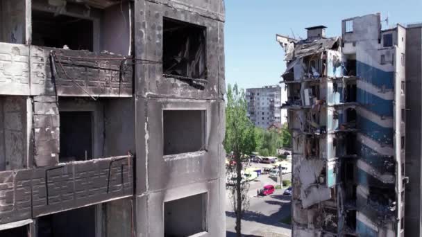
[[[164,202],[164,237],[192,236],[208,231],[207,193]]]

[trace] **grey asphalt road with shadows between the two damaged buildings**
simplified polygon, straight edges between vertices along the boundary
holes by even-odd
[[[258,166],[266,165],[253,164],[253,167]],[[291,173],[283,175],[283,179],[291,177]],[[267,197],[257,197],[257,190],[266,184],[276,185],[276,182],[268,175],[261,175],[250,183],[249,208],[242,218],[242,234],[263,237],[290,236],[292,233],[290,226],[279,222],[291,215],[290,197],[282,195],[284,190],[280,189]],[[226,200],[226,230],[227,236],[235,236],[235,213],[228,197]]]

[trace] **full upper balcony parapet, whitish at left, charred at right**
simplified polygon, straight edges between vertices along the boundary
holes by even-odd
[[[0,94],[133,94],[133,60],[121,55],[0,43],[0,65]]]

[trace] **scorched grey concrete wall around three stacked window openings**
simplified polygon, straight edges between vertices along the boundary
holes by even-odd
[[[223,14],[223,1],[135,1],[135,57],[158,62],[135,67],[137,236],[164,236],[164,202],[199,193],[208,193],[204,236],[225,235]],[[162,76],[163,17],[207,28],[203,87]],[[207,150],[164,156],[163,109],[206,110]]]

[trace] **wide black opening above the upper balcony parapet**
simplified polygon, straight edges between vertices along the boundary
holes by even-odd
[[[94,22],[89,19],[32,11],[32,44],[92,51]]]

